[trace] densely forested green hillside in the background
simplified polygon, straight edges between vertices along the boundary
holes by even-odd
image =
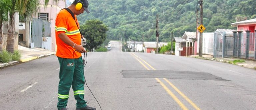
[[[256,0],[203,2],[205,32],[214,32],[217,28],[236,29],[231,27],[236,18],[238,21],[256,18]],[[89,4],[91,13],[79,15],[79,22],[103,21],[109,28],[108,39],[118,40],[121,34],[126,40],[142,40],[144,34],[144,41],[155,41],[156,15],[159,15],[159,40],[162,42],[170,41],[171,32],[181,37],[185,31],[196,31],[198,0],[89,0]]]

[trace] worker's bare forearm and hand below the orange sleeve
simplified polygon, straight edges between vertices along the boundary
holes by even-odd
[[[84,50],[84,48],[81,45],[77,45],[75,44],[73,41],[71,41],[68,36],[65,33],[60,33],[58,35],[58,37],[65,43],[68,44],[69,46],[73,47],[76,49],[76,51],[80,52],[80,53],[84,53],[86,52],[86,50]]]

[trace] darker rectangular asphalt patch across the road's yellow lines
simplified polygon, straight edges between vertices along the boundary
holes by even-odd
[[[204,72],[172,71],[172,70],[122,70],[124,78],[167,78],[191,80],[229,81]]]

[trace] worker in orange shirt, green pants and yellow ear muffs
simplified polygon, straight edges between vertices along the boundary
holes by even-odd
[[[58,110],[67,110],[71,85],[77,101],[76,110],[96,110],[87,106],[84,100],[84,67],[81,53],[86,50],[81,46],[83,36],[76,18],[76,15],[84,11],[90,13],[88,6],[87,0],[75,0],[68,8],[62,9],[56,17],[56,56],[60,63]]]

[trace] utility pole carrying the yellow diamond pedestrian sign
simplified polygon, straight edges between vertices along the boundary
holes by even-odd
[[[203,25],[203,0],[200,0],[200,24]],[[199,37],[199,57],[203,56],[203,33],[200,32]]]

